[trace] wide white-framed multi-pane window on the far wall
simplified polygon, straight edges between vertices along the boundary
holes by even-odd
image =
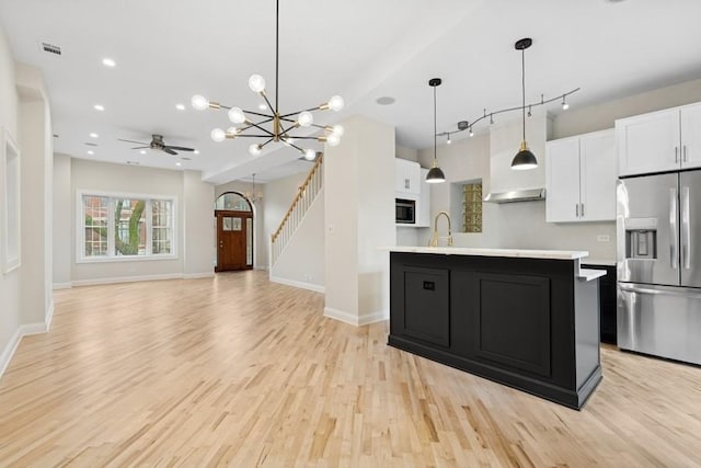
[[[146,260],[175,255],[175,199],[79,192],[78,261]]]

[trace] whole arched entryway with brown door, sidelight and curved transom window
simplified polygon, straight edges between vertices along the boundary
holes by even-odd
[[[217,264],[215,272],[253,269],[253,207],[242,194],[227,192],[215,202]]]

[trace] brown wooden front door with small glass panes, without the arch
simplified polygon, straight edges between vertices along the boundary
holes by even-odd
[[[217,210],[216,272],[251,270],[253,218],[251,213]]]

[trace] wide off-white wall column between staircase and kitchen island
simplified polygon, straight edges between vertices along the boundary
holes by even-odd
[[[394,127],[350,117],[343,144],[324,156],[324,315],[353,324],[389,317],[394,246]]]

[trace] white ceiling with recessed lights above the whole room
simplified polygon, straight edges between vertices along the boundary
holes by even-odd
[[[398,144],[426,148],[433,145],[430,78],[444,79],[438,132],[483,109],[518,105],[514,43],[532,37],[527,101],[579,87],[568,102],[588,105],[701,77],[699,18],[698,0],[280,0],[280,111],[341,94],[346,109],[317,113],[318,123],[363,114],[394,125]],[[57,152],[202,170],[214,183],[254,172],[265,182],[308,168],[289,148],[254,158],[250,139],[214,142],[210,130],[230,125],[226,113],[189,106],[193,94],[204,94],[255,110],[252,73],[266,78],[274,96],[274,0],[0,0],[0,24],[15,58],[44,72]],[[62,55],[43,52],[42,42],[59,45]],[[104,57],[117,66],[104,67]],[[395,103],[378,105],[380,96]],[[105,111],[93,110],[96,103]],[[556,103],[549,110],[563,112]],[[140,155],[117,141],[149,141],[151,134],[200,152]]]

